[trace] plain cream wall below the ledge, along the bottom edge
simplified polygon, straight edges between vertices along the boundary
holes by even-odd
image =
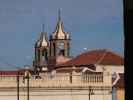
[[[90,100],[112,100],[111,94],[106,94],[108,91],[90,96]],[[23,95],[23,96],[22,96]],[[30,91],[30,100],[88,100],[88,90],[42,90]],[[0,92],[0,100],[17,100],[15,91]],[[21,92],[20,100],[27,100],[26,91]]]

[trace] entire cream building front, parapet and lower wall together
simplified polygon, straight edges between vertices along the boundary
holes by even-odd
[[[112,89],[111,76],[108,72],[104,72],[103,82],[86,82],[82,81],[82,74],[73,72],[72,83],[69,80],[69,73],[56,73],[54,78],[49,78],[47,73],[42,74],[42,79],[30,79],[30,87],[40,87],[38,90],[30,90],[30,100],[88,100],[88,87],[108,88],[106,91],[102,89],[95,90],[95,95],[91,95],[91,100],[112,100],[110,93]],[[99,76],[89,76],[97,80]],[[101,77],[101,76],[100,76]],[[16,87],[16,77],[1,77],[0,87]],[[20,87],[26,87],[23,78],[20,78]],[[44,88],[45,87],[45,88]],[[47,87],[47,89],[46,89]],[[56,87],[56,90],[49,88]],[[64,89],[65,87],[66,89]],[[69,90],[68,88],[78,88],[77,90]],[[62,90],[59,90],[62,89]],[[9,89],[4,91],[0,89],[0,100],[17,100],[17,92]],[[26,99],[26,91],[21,92],[20,100]]]

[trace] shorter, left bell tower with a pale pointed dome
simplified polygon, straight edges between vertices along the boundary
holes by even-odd
[[[40,33],[40,38],[35,43],[35,58],[33,61],[34,70],[37,72],[46,71],[49,57],[49,42],[47,33],[43,31]]]

